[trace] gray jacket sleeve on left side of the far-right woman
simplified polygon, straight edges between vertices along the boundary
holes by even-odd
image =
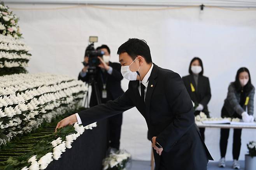
[[[239,102],[237,101],[237,97],[235,95],[236,91],[235,88],[233,87],[233,85],[230,85],[228,87],[228,101],[231,105],[231,107],[240,115],[242,115],[242,113],[245,111],[239,104]]]

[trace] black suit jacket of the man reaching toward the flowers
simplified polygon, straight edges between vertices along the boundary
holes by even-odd
[[[139,81],[130,81],[128,90],[116,100],[79,112],[83,125],[135,106],[144,116],[151,137],[156,136],[163,146],[161,156],[154,151],[156,170],[162,166],[160,162],[168,170],[206,170],[212,157],[195,126],[193,105],[181,77],[154,64],[145,104],[138,85]]]

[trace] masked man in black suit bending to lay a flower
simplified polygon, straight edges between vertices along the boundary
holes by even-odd
[[[156,170],[206,170],[212,157],[196,128],[193,105],[181,77],[152,63],[144,40],[129,39],[117,54],[121,73],[130,80],[128,90],[114,101],[61,120],[56,129],[79,118],[88,125],[135,106],[147,122]]]

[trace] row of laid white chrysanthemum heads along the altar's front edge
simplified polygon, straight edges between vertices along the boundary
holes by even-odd
[[[97,124],[92,123],[91,125],[88,125],[86,127],[83,127],[82,125],[79,126],[77,123],[75,123],[74,128],[77,134],[70,134],[66,136],[66,141],[62,141],[59,137],[58,139],[51,142],[53,146],[53,152],[47,153],[44,156],[40,158],[39,161],[37,161],[37,155],[32,156],[28,163],[31,162],[30,167],[24,167],[21,170],[44,170],[47,168],[49,163],[53,160],[58,160],[61,157],[61,154],[66,151],[66,148],[70,149],[72,146],[72,142],[77,139],[81,134],[84,133],[85,129],[92,129],[93,127],[96,127]]]

